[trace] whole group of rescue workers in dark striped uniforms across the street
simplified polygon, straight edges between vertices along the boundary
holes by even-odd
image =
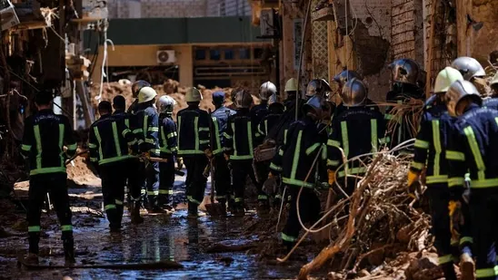
[[[200,109],[202,93],[189,88],[187,107],[173,118],[175,101],[157,101],[151,84],[134,82],[134,103],[125,110],[123,96],[98,105],[100,119],[90,128],[89,158],[102,179],[105,212],[111,232],[121,230],[124,200],[132,223],[143,222],[140,208],[172,212],[174,176],[186,168],[188,217],[199,216],[209,171],[218,214],[245,213],[246,179],[257,190],[257,210],[289,206],[281,234],[292,248],[302,229],[320,217],[316,189],[333,188],[335,200],[351,196],[358,177],[375,152],[397,149],[415,138],[408,174],[408,194],[419,198],[421,178],[429,198],[434,245],[446,279],[456,279],[455,256],[460,256],[466,279],[498,279],[495,244],[498,237],[498,74],[490,84],[475,59],[460,57],[435,79],[424,101],[418,130],[400,116],[396,104],[423,101],[424,72],[411,59],[390,65],[392,90],[385,111],[368,98],[368,87],[354,71],[334,77],[341,102],[324,79],[306,86],[301,97],[296,79],[286,82],[284,94],[264,82],[254,105],[252,94],[237,89],[233,104],[224,92],[214,92],[214,111]],[[484,98],[486,88],[494,95]],[[489,95],[489,94],[488,94]],[[497,98],[494,98],[497,97]],[[38,112],[25,121],[22,154],[29,159],[29,253],[37,259],[40,213],[47,192],[60,220],[66,260],[74,260],[71,211],[65,188],[65,159],[75,155],[69,121],[51,110],[51,92],[40,92]],[[285,99],[284,99],[285,98]],[[282,100],[282,101],[281,101]],[[413,111],[405,113],[413,114]],[[357,159],[357,160],[354,160]],[[176,166],[175,166],[176,165]],[[347,169],[347,173],[345,170]],[[127,194],[125,191],[127,186]],[[472,227],[470,226],[472,223]]]

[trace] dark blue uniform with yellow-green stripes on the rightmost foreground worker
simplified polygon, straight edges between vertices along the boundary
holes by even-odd
[[[495,272],[498,244],[498,111],[468,106],[455,122],[446,150],[450,196],[462,200],[464,176],[469,171],[469,208],[478,279],[498,279]]]

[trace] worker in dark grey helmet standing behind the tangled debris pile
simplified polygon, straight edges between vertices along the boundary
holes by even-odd
[[[392,90],[387,93],[386,101],[397,104],[405,104],[411,99],[423,100],[423,88],[419,86],[422,69],[415,61],[407,58],[398,59],[389,65],[392,70]],[[387,131],[391,140],[391,147],[395,147],[405,140],[412,139],[416,132],[412,130],[413,124],[409,123],[413,112],[407,112],[403,116],[393,115],[393,106],[387,106],[385,120],[393,121],[392,130]],[[395,119],[394,119],[395,118]]]

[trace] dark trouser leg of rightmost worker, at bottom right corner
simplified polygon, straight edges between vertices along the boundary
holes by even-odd
[[[498,241],[498,188],[473,188],[469,208],[477,279],[498,279],[495,272]]]

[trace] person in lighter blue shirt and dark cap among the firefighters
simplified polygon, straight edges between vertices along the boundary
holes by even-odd
[[[228,118],[236,111],[224,107],[224,92],[213,93],[214,111],[211,113],[213,120],[212,147],[214,155],[214,188],[216,190],[216,200],[221,204],[223,213],[226,215],[226,202],[234,203],[234,198],[230,196],[230,169],[228,162],[224,159],[224,131]],[[212,187],[213,188],[213,187]]]

